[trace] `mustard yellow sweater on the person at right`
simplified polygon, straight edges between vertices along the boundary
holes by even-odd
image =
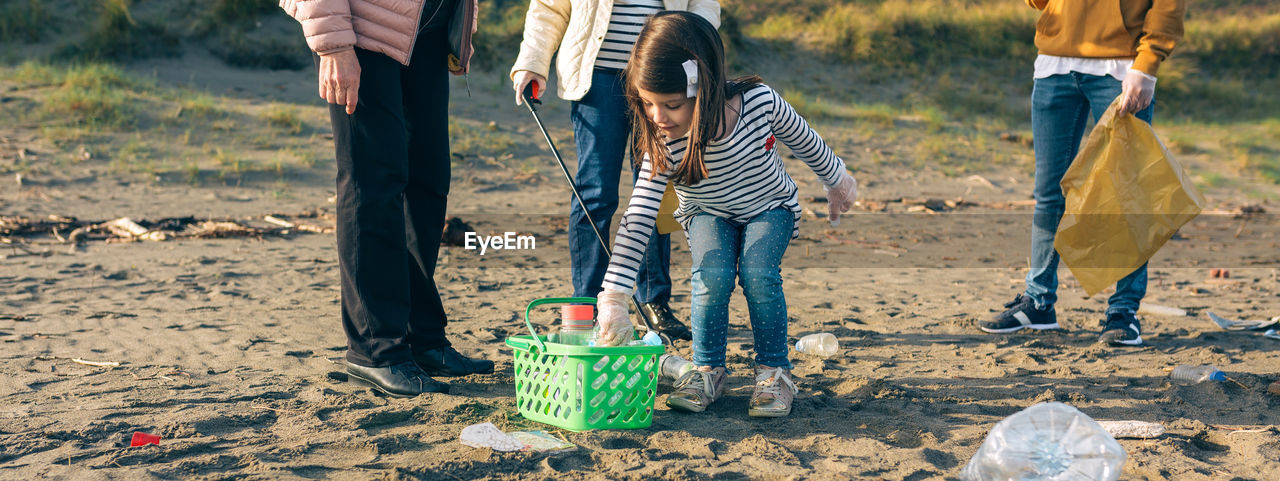
[[[1046,55],[1133,59],[1155,75],[1183,38],[1187,0],[1025,1],[1041,10],[1036,47]]]

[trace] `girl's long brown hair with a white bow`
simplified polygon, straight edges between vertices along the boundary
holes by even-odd
[[[623,78],[631,114],[640,116],[631,122],[632,152],[649,155],[650,178],[671,169],[669,151],[658,125],[644,114],[639,90],[684,93],[687,77],[681,64],[690,59],[698,64],[698,95],[685,157],[671,174],[672,180],[685,185],[698,184],[709,175],[703,154],[714,136],[727,133],[724,102],[760,83],[755,75],[724,81],[724,45],[707,19],[689,12],[660,12],[649,18],[627,60]]]

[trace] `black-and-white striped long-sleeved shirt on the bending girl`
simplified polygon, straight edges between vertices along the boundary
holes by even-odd
[[[676,184],[680,198],[676,219],[680,224],[687,229],[690,219],[699,214],[746,223],[760,212],[786,207],[796,220],[791,237],[799,237],[797,189],[782,165],[774,139],[786,145],[827,187],[840,182],[845,162],[782,96],[760,84],[742,92],[742,111],[733,133],[707,146],[703,159],[709,175],[696,185]],[[672,169],[684,159],[687,141],[686,136],[667,142]],[[640,179],[618,224],[613,257],[604,275],[605,289],[632,292],[635,285],[636,270],[653,234],[658,206],[671,174],[658,173],[650,179],[650,171],[653,162],[645,156]]]

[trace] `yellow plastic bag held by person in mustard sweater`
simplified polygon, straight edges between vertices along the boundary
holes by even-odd
[[[1140,267],[1197,215],[1204,197],[1156,130],[1120,100],[1102,114],[1062,177],[1066,210],[1053,247],[1085,294]]]

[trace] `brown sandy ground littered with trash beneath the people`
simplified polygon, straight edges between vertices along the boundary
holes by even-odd
[[[163,70],[195,81],[170,67]],[[237,78],[259,82],[210,82]],[[307,92],[287,95],[310,101]],[[1012,298],[1024,274],[1029,210],[1009,202],[1029,194],[1025,175],[975,188],[890,171],[863,178],[868,200],[965,196],[975,205],[929,214],[911,212],[910,201],[883,202],[884,212],[860,211],[838,228],[804,221],[783,270],[790,334],[832,333],[841,352],[794,354],[801,393],[790,417],[746,416],[751,333],[739,296],[728,342],[733,375],[707,413],[667,409],[663,382],[648,429],[570,432],[522,420],[503,340],[524,331],[530,301],[570,294],[557,228],[568,193],[508,93],[472,84],[471,95],[479,100],[456,114],[497,115],[517,136],[518,155],[543,166],[522,182],[483,165],[454,170],[451,215],[481,233],[539,238],[534,251],[483,257],[442,249],[451,339],[494,359],[495,374],[451,379],[451,394],[413,399],[344,382],[332,234],[0,248],[0,478],[954,480],[997,421],[1048,400],[1096,420],[1167,427],[1158,439],[1121,440],[1129,455],[1121,478],[1280,478],[1280,397],[1266,393],[1280,377],[1280,340],[1221,331],[1206,317],[1280,315],[1274,217],[1206,216],[1170,243],[1152,262],[1147,301],[1189,316],[1146,315],[1142,348],[1094,344],[1106,294],[1084,298],[1065,270],[1064,330],[987,335],[977,321]],[[563,105],[549,109],[566,136]],[[803,203],[822,212],[813,175],[795,161],[788,168],[803,180]],[[332,192],[328,183],[297,185],[287,200],[255,187],[119,189],[105,177],[0,185],[0,215],[97,220],[260,219],[328,209]],[[1231,209],[1229,198],[1217,201],[1216,209]],[[685,317],[682,243],[677,234],[672,304]],[[1233,267],[1231,280],[1208,279],[1208,267]],[[545,329],[550,316],[539,322]],[[675,351],[687,354],[689,345]],[[1167,370],[1180,363],[1212,363],[1238,382],[1170,384]],[[457,441],[462,427],[485,421],[547,429],[579,449],[502,454]],[[134,431],[164,440],[124,448]]]

